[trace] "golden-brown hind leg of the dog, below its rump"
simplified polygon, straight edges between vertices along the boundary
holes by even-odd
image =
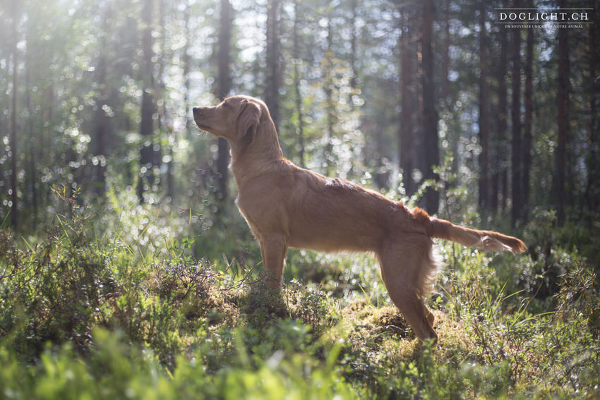
[[[417,239],[420,239],[417,237]],[[392,302],[421,341],[438,340],[433,330],[435,317],[425,306],[432,269],[431,241],[397,240],[378,253],[381,275]]]

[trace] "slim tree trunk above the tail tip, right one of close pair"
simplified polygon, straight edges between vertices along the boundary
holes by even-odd
[[[529,8],[534,8],[529,0]],[[534,29],[527,30],[527,50],[525,53],[525,124],[523,127],[523,176],[522,176],[522,205],[521,217],[527,221],[529,214],[529,171],[532,165],[532,138],[533,138],[533,62],[534,62]]]

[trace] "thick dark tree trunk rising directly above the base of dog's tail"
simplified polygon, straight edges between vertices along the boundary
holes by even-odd
[[[433,88],[433,0],[425,0],[423,7],[423,25],[421,27],[421,85],[423,90],[423,128],[424,128],[424,160],[426,179],[437,180],[433,166],[440,164],[438,149],[438,112]],[[425,192],[425,209],[429,214],[438,212],[439,195],[429,188]]]

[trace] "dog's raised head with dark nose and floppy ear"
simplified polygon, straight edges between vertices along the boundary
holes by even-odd
[[[266,106],[258,99],[233,96],[213,107],[194,107],[193,119],[201,130],[241,147],[252,142],[263,110]]]

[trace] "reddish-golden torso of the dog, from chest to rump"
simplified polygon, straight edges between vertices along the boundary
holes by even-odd
[[[289,162],[248,183],[238,205],[253,230],[281,231],[294,248],[377,252],[386,236],[426,234],[402,203]]]

